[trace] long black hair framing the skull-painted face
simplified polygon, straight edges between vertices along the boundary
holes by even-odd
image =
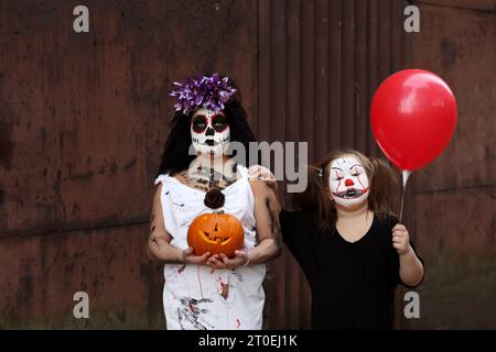
[[[233,81],[229,84],[234,86]],[[248,116],[241,106],[238,92],[225,105],[223,110],[227,118],[227,123],[230,130],[230,141],[239,142],[245,146],[247,155],[245,157],[246,165],[260,164],[260,155],[252,161],[250,157],[250,142],[257,142],[254,132],[248,124]],[[174,118],[171,120],[171,131],[165,141],[165,145],[162,153],[162,161],[159,167],[159,174],[169,174],[174,176],[175,174],[187,169],[190,164],[195,160],[195,155],[190,155],[191,141],[191,119],[194,111],[188,114],[184,114],[181,111],[175,112]],[[259,154],[259,153],[258,153]],[[230,155],[234,157],[236,154]],[[241,158],[242,161],[244,158]],[[242,162],[241,162],[242,163]],[[251,163],[251,164],[250,164]]]

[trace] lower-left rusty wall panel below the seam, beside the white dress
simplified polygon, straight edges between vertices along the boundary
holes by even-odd
[[[163,276],[144,253],[147,233],[136,226],[1,240],[0,327],[163,328]],[[74,317],[76,292],[88,294],[90,319]]]

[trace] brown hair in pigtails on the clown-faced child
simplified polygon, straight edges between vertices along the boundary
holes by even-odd
[[[315,166],[308,167],[309,184],[305,191],[295,195],[293,206],[314,213],[319,229],[323,232],[333,229],[337,211],[328,188],[331,164],[334,160],[353,155],[364,166],[370,184],[368,209],[378,217],[395,216],[393,209],[399,202],[400,183],[395,170],[384,161],[367,157],[355,150],[335,151]]]

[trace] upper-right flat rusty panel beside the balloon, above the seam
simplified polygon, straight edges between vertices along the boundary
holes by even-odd
[[[421,13],[413,65],[452,87],[459,123],[446,150],[418,173],[419,190],[490,187],[496,184],[496,12],[424,6]]]

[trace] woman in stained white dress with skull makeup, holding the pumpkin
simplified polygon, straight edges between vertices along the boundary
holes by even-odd
[[[152,260],[165,264],[166,327],[261,329],[265,263],[281,250],[278,200],[266,183],[249,179],[246,166],[236,162],[240,155],[236,161],[229,155],[233,142],[248,152],[255,138],[227,78],[213,75],[177,86],[172,95],[179,111],[155,179],[147,246]],[[191,145],[196,155],[188,155]],[[192,221],[214,211],[242,224],[244,248],[231,258],[196,256],[188,246]]]

